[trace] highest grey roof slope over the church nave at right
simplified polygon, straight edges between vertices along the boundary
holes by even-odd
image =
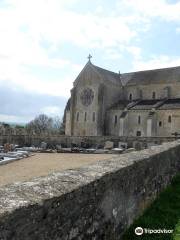
[[[161,68],[121,74],[123,85],[180,82],[180,67]]]

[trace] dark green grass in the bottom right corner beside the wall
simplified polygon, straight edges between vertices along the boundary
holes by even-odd
[[[134,233],[136,227],[148,229],[175,229],[174,234]],[[123,235],[123,240],[180,240],[180,174],[173,178],[171,185],[145,210]]]

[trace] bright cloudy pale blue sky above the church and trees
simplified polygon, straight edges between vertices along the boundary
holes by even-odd
[[[62,117],[89,53],[114,72],[180,66],[180,1],[0,0],[0,121]]]

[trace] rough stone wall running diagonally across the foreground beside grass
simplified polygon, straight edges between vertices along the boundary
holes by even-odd
[[[1,240],[118,240],[180,170],[180,142],[0,188]]]

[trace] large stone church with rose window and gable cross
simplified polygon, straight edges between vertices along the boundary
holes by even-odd
[[[180,67],[120,74],[95,66],[90,57],[65,109],[67,136],[180,133]]]

